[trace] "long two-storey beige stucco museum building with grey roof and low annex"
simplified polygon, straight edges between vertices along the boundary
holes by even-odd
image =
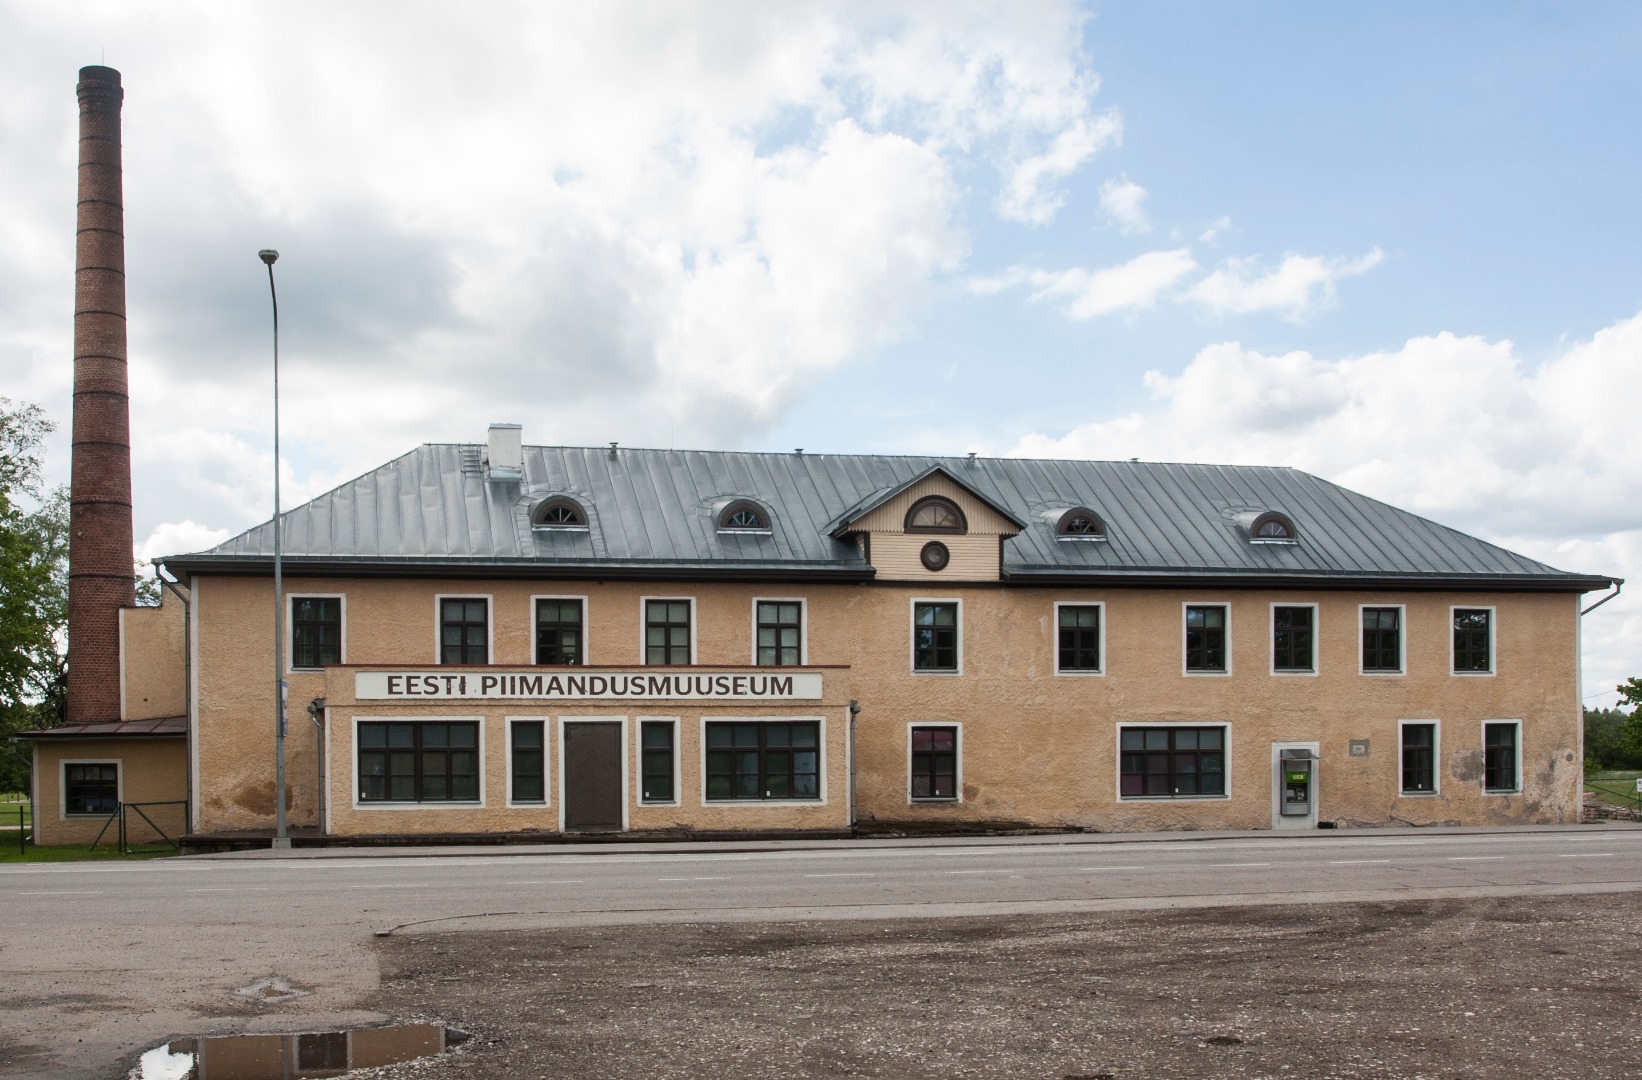
[[[1276,468],[429,445],[291,510],[307,835],[1571,822],[1581,594]],[[164,560],[41,842],[274,824],[271,525]],[[181,812],[181,811],[179,811]]]

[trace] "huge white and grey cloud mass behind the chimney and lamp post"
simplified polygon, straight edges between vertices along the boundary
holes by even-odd
[[[1044,222],[1117,140],[1085,18],[10,5],[0,381],[66,428],[92,41],[126,85],[140,533],[266,517],[261,246],[282,253],[287,499],[504,417],[544,442],[747,445],[906,333],[967,258],[972,190]]]

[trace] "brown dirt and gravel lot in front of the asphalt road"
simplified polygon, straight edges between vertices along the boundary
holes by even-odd
[[[1642,895],[386,939],[381,1077],[1635,1077]]]

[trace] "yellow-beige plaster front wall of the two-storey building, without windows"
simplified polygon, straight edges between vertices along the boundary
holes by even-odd
[[[857,732],[860,812],[880,821],[1030,821],[1097,829],[1269,827],[1273,740],[1322,744],[1319,788],[1323,819],[1358,824],[1578,819],[1578,597],[1568,594],[1033,589],[964,586],[951,579],[936,579],[928,586],[657,586],[297,578],[287,579],[287,588],[292,593],[346,594],[346,663],[402,666],[433,660],[437,594],[493,597],[493,660],[499,665],[530,661],[532,596],[586,596],[588,661],[627,666],[640,660],[640,599],[645,596],[696,599],[696,658],[708,665],[749,663],[755,597],[808,596],[806,660],[851,668],[849,696],[860,699],[864,707]],[[913,675],[911,601],[954,594],[962,597],[964,675]],[[1053,604],[1057,599],[1107,606],[1105,675],[1054,675]],[[1181,673],[1186,601],[1232,606],[1230,676]],[[1269,673],[1273,602],[1319,604],[1319,675]],[[1407,606],[1407,675],[1358,675],[1358,604],[1365,602]],[[197,604],[200,827],[268,827],[273,821],[269,581],[212,578],[197,591]],[[1448,673],[1448,609],[1453,604],[1496,607],[1496,676]],[[291,673],[289,680],[291,821],[309,824],[317,819],[317,732],[302,706],[310,698],[330,698],[338,691],[327,686],[323,673]],[[828,716],[829,747],[844,727],[836,719],[842,702],[832,701],[834,684],[829,678],[828,707],[813,709]],[[335,717],[345,716],[340,698],[330,704]],[[496,704],[452,702],[437,711],[461,716],[525,711],[496,709]],[[806,707],[795,706],[800,712]],[[369,709],[379,711],[374,704]],[[366,707],[360,706],[360,711]],[[698,717],[701,712],[732,711],[744,709],[586,704],[586,714],[629,717]],[[570,709],[555,706],[548,711],[550,716],[562,712]],[[767,711],[754,707],[747,712]],[[1440,721],[1443,778],[1438,796],[1397,794],[1399,719]],[[1481,724],[1486,719],[1524,722],[1525,789],[1520,796],[1481,794]],[[943,721],[964,725],[964,801],[910,804],[906,725]],[[1166,721],[1232,724],[1230,799],[1146,803],[1117,798],[1117,724]],[[695,760],[688,757],[695,753],[691,722],[686,719],[680,740],[686,776]],[[499,724],[486,727],[486,739],[499,739]],[[1346,755],[1351,739],[1369,740],[1366,758]],[[842,758],[839,750],[828,753],[829,776],[831,770],[842,767]],[[501,760],[491,752],[488,768]],[[332,776],[333,788],[346,780],[351,789],[348,768]],[[632,788],[637,788],[635,781]],[[691,791],[688,780],[683,788]],[[831,780],[829,793],[842,798]],[[834,806],[829,799],[829,809]],[[399,814],[409,821],[425,812]],[[448,816],[452,812],[438,811],[438,821],[455,822],[456,817]],[[696,827],[718,827],[709,824],[718,821],[750,824],[755,812],[698,806],[688,814],[688,822]],[[473,821],[486,829],[530,827],[517,826],[516,816],[498,814],[488,809]],[[632,824],[639,827],[662,817],[667,816],[647,811]],[[675,811],[668,824],[681,817],[683,809]],[[381,831],[376,826],[369,829]]]

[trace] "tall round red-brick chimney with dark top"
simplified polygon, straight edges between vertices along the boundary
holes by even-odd
[[[69,483],[71,724],[120,719],[120,607],[136,602],[131,407],[125,373],[120,72],[82,67]]]

